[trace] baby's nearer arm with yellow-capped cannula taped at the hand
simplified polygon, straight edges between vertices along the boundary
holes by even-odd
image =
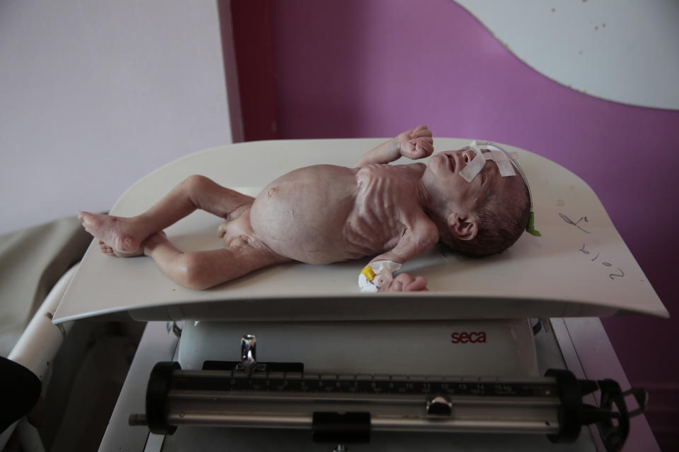
[[[377,290],[384,292],[414,292],[426,290],[426,279],[422,276],[413,278],[408,273],[400,273],[395,278],[391,278],[391,273],[395,273],[402,263],[426,251],[438,241],[439,231],[434,222],[431,222],[429,218],[422,218],[414,224],[414,227],[403,234],[392,250],[376,256],[368,263],[366,268],[371,269],[368,270],[368,274],[373,273],[372,267],[376,269],[385,268],[385,270],[378,271],[378,274],[373,275],[374,279],[371,280],[371,283],[368,283],[368,287],[370,285],[376,287],[370,289],[365,287],[366,278],[363,278],[363,283],[359,283],[359,285],[363,284],[361,285],[361,290],[364,292],[374,292]],[[366,269],[364,268],[364,271],[361,273],[366,275]]]

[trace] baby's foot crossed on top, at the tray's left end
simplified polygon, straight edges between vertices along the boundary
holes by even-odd
[[[99,239],[99,246],[104,254],[118,257],[144,254],[141,241],[146,237],[135,236],[129,218],[80,211],[78,219],[87,232]]]

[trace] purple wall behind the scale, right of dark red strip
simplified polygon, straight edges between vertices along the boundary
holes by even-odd
[[[598,194],[676,314],[678,111],[559,85],[453,1],[273,1],[273,23],[281,138],[393,136],[427,124],[434,136],[499,141],[554,160]],[[649,415],[660,441],[667,420],[657,408],[668,398],[676,406],[679,393],[679,322],[603,322],[630,382],[664,399]]]

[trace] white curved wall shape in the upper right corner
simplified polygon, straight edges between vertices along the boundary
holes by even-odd
[[[456,0],[543,75],[643,107],[679,109],[677,0]]]

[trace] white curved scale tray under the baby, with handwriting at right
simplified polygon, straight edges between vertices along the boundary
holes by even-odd
[[[256,196],[261,187],[292,169],[320,163],[351,166],[383,141],[260,141],[204,150],[141,179],[111,213],[137,215],[191,174]],[[450,150],[469,142],[435,138],[434,145],[436,150]],[[425,276],[429,292],[361,294],[356,281],[369,258],[328,266],[288,263],[210,290],[188,290],[163,275],[150,258],[112,258],[93,242],[54,321],[127,314],[140,321],[668,317],[592,189],[550,160],[505,148],[518,153],[526,172],[542,237],[523,234],[504,253],[481,259],[435,247],[402,268]],[[198,211],[166,232],[184,251],[214,249],[221,246],[216,237],[221,221]]]

